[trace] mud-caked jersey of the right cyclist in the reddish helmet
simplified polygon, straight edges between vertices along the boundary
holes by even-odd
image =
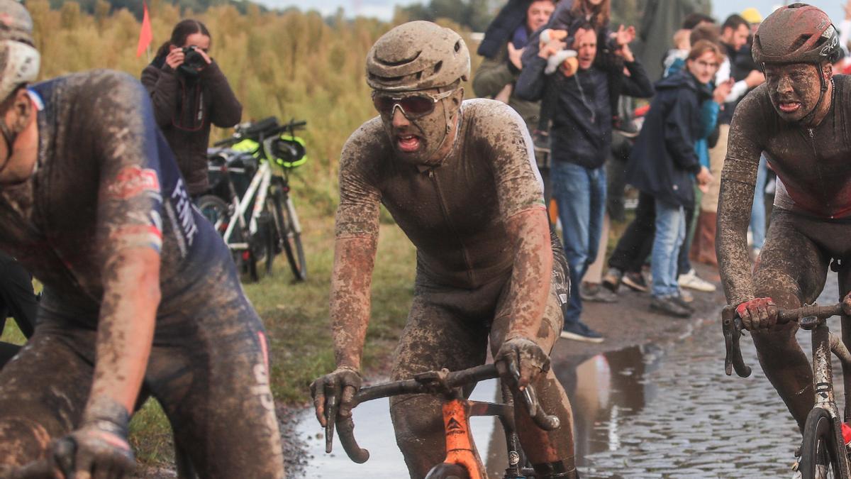
[[[851,216],[851,76],[833,78],[831,109],[813,128],[781,119],[766,84],[745,96],[730,127],[722,180],[755,184],[764,151],[782,183],[774,205],[822,218]]]

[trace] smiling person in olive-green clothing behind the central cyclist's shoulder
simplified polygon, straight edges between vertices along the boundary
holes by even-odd
[[[515,8],[515,3],[508,3],[498,15],[500,22],[507,21],[506,10],[519,13]],[[541,178],[544,180],[544,201],[549,207],[551,197],[550,186],[550,159],[549,145],[539,146],[539,135],[535,134],[540,121],[540,101],[527,101],[518,98],[514,94],[514,84],[517,82],[517,77],[520,75],[520,70],[523,68],[523,63],[520,57],[523,55],[523,49],[528,43],[529,36],[538,30],[541,26],[545,26],[550,21],[552,11],[556,9],[555,0],[534,0],[528,2],[528,8],[525,10],[523,23],[515,29],[510,38],[507,38],[503,43],[503,47],[491,58],[485,57],[481,65],[476,70],[476,75],[473,77],[473,90],[478,96],[486,96],[500,101],[505,101],[508,105],[520,113],[523,121],[526,122],[529,134],[533,137],[536,143],[535,159],[538,163],[538,170]],[[494,20],[496,22],[498,20]],[[498,35],[502,30],[488,28],[488,35]],[[484,42],[483,42],[484,44]]]

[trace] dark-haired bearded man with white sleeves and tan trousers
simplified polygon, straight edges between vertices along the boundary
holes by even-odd
[[[748,92],[765,81],[762,72],[756,70],[750,61],[750,49],[745,49],[751,26],[739,14],[728,16],[721,26],[722,48],[726,50],[727,58],[722,62],[716,76],[717,84],[722,84],[728,78],[734,78],[735,83],[726,98],[722,111],[718,114],[718,139],[715,147],[710,149],[710,171],[713,182],[707,193],[700,199],[700,217],[697,231],[692,243],[691,259],[700,263],[717,266],[715,256],[715,223],[718,210],[718,192],[721,187],[721,170],[724,156],[727,154],[727,136],[730,130],[730,120],[736,104]],[[737,78],[743,78],[737,80]]]

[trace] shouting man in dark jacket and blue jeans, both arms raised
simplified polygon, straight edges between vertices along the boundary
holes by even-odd
[[[559,9],[562,5],[559,5]],[[551,21],[551,25],[553,22]],[[550,43],[539,44],[534,35],[523,52],[523,70],[517,78],[517,95],[540,100],[554,94],[552,105],[552,188],[562,222],[565,253],[570,265],[570,303],[565,315],[563,338],[601,341],[602,336],[580,321],[580,284],[585,269],[597,257],[606,201],[604,162],[612,141],[612,111],[609,104],[608,74],[597,66],[597,32],[589,23],[580,25],[574,35],[561,31]],[[648,97],[653,85],[628,43],[634,33],[621,29],[613,55],[623,61],[630,76],[623,78],[625,95]],[[546,75],[547,59],[570,44],[577,51],[576,72],[564,64]],[[609,59],[610,61],[610,59]]]

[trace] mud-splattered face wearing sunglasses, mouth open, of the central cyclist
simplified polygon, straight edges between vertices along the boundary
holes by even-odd
[[[392,96],[387,107],[379,108],[380,101],[375,101],[381,92],[376,92],[374,103],[381,115],[381,122],[387,136],[390,137],[393,151],[397,158],[408,164],[435,166],[440,164],[451,150],[455,141],[455,123],[458,119],[458,109],[464,89],[451,90],[451,94],[443,97],[449,90],[425,89],[409,93],[388,94]],[[434,110],[420,114],[417,103],[425,104],[426,98],[439,98],[433,101]],[[443,97],[443,98],[441,98]],[[408,103],[408,101],[411,101]],[[405,105],[410,107],[405,110]]]

